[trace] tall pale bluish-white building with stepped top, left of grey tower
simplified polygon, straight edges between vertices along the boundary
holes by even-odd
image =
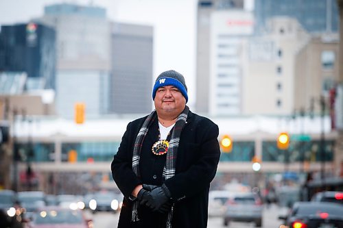
[[[75,103],[87,116],[107,114],[110,90],[110,21],[95,6],[60,3],[37,20],[56,29],[56,110],[73,116]]]

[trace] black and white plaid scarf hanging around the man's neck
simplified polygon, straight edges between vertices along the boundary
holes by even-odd
[[[182,129],[186,125],[188,111],[189,111],[189,107],[186,106],[185,109],[181,112],[181,114],[176,119],[176,123],[174,125],[173,131],[171,132],[169,149],[167,153],[167,160],[165,162],[165,167],[163,168],[163,179],[165,180],[175,175],[178,142],[180,141],[180,135],[181,135]],[[147,131],[149,130],[150,125],[152,125],[155,118],[156,118],[156,110],[154,110],[149,116],[147,116],[134,142],[134,149],[133,149],[133,155],[132,155],[132,170],[137,175],[137,177],[141,176],[139,173],[139,155],[141,153],[143,141],[145,139],[145,136],[147,135]],[[136,222],[139,220],[137,207],[138,207],[138,201],[134,202],[132,206],[132,217],[131,217],[132,222]],[[171,207],[171,211],[168,213],[167,228],[171,227],[171,218],[173,216],[173,210],[174,210],[174,206]]]

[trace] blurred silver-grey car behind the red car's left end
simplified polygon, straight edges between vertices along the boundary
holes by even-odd
[[[23,207],[24,216],[29,218],[36,209],[45,206],[45,193],[41,191],[18,192],[18,201]]]

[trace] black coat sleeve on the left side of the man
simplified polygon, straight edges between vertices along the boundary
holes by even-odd
[[[132,190],[141,184],[141,181],[132,170],[132,144],[130,143],[132,130],[130,124],[126,127],[117,154],[113,156],[111,164],[112,177],[124,197],[129,197]]]

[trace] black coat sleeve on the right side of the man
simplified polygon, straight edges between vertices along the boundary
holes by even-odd
[[[193,163],[185,172],[177,173],[165,181],[165,185],[171,192],[174,201],[185,197],[193,197],[209,186],[220,160],[220,147],[218,144],[219,129],[212,123],[200,140],[200,158]]]

